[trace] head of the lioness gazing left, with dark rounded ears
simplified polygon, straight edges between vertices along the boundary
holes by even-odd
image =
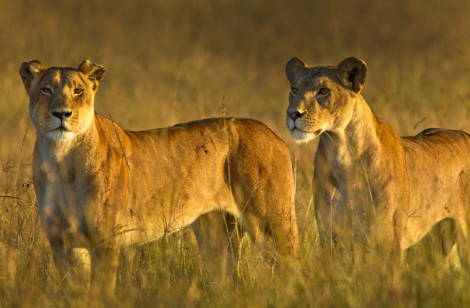
[[[299,58],[289,60],[286,75],[291,93],[286,121],[293,139],[308,142],[348,123],[366,74],[367,66],[358,58],[347,58],[337,67],[313,68]]]

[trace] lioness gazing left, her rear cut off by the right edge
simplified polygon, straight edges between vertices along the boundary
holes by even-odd
[[[400,138],[360,94],[366,73],[358,58],[336,67],[308,68],[298,58],[286,64],[287,127],[298,142],[320,137],[313,196],[322,242],[350,246],[359,238],[402,260],[433,225],[451,218],[459,259],[467,262],[470,135],[427,129]]]

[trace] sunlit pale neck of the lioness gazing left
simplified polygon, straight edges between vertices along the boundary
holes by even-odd
[[[350,170],[358,160],[367,165],[367,161],[375,161],[371,156],[380,156],[377,119],[362,95],[354,99],[340,125],[321,134],[320,143],[334,157],[335,161],[330,161],[333,169]]]

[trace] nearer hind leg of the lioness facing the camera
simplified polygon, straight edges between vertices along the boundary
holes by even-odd
[[[293,176],[289,164],[258,166],[260,174],[246,174],[234,166],[231,182],[236,209],[232,211],[263,256],[277,260],[291,258],[298,251],[298,230],[294,207]]]

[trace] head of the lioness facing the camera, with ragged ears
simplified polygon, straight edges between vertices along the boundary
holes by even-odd
[[[94,116],[102,65],[84,60],[78,69],[47,68],[38,60],[24,62],[19,70],[29,95],[29,115],[36,132],[53,142],[64,142],[85,132]]]

